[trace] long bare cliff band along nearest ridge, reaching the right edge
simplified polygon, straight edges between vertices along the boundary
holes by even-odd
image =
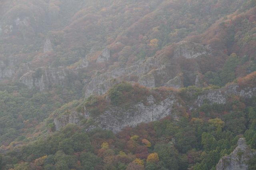
[[[179,119],[179,116],[174,109],[176,106],[195,109],[200,107],[204,100],[208,100],[210,104],[225,104],[228,98],[232,95],[250,99],[253,96],[256,96],[256,88],[241,87],[238,84],[233,83],[221,89],[204,90],[196,99],[194,99],[194,101],[191,102],[192,105],[183,103],[182,100],[180,100],[179,93],[177,92],[170,92],[168,97],[161,101],[156,101],[156,99],[150,95],[147,97],[148,105],[145,105],[144,103],[136,103],[126,109],[123,107],[111,106],[104,111],[104,113],[96,117],[95,115],[91,115],[91,113],[86,111],[86,108],[84,108],[84,113],[73,112],[70,115],[60,115],[54,119],[54,123],[56,130],[59,130],[68,123],[78,124],[80,119],[76,119],[78,118],[77,115],[83,115],[86,119],[92,119],[94,121],[94,125],[118,132],[124,127],[134,127],[139,123],[157,121],[166,116]]]

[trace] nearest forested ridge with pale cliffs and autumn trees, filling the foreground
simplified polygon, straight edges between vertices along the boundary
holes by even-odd
[[[150,90],[121,83],[104,97],[91,96],[84,105],[76,101],[56,110],[51,120],[45,122],[47,134],[41,134],[34,142],[2,146],[2,152],[7,153],[2,157],[1,166],[25,169],[208,170],[216,166],[218,169],[253,169],[255,77],[254,72],[238,79],[238,84],[222,89],[188,87],[180,91]],[[62,112],[64,114],[60,114]],[[82,113],[90,114],[90,118]],[[140,116],[134,119],[130,117],[132,113],[135,118]],[[160,119],[158,113],[169,115]],[[52,132],[53,117],[59,114],[54,122],[62,123],[59,125],[63,127]],[[148,122],[147,119],[160,121],[137,125],[140,120]],[[68,122],[70,124],[66,125]],[[121,130],[128,123],[134,127]],[[246,145],[245,138],[250,146]]]

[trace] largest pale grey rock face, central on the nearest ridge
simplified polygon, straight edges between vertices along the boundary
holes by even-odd
[[[172,106],[176,102],[174,95],[157,104],[146,106],[138,103],[129,109],[114,107],[107,110],[100,117],[94,119],[95,124],[102,128],[118,132],[122,128],[134,127],[139,123],[148,123],[160,120],[168,115],[172,116]]]

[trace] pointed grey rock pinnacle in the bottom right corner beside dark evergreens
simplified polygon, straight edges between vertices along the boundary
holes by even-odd
[[[245,138],[238,140],[238,146],[228,156],[224,156],[220,159],[217,165],[217,170],[247,170],[248,160],[251,156],[256,154],[246,145]]]

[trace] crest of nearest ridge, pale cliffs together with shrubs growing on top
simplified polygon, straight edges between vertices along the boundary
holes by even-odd
[[[254,83],[255,74],[256,72],[248,75]],[[199,90],[197,93],[190,91],[189,88],[182,89],[180,92],[171,90],[161,93],[161,91],[151,91],[138,85],[132,87],[127,83],[120,83],[111,87],[110,91],[102,97],[90,96],[84,105],[80,106],[82,111],[58,115],[58,118],[54,119],[54,124],[56,130],[60,130],[68,123],[80,125],[84,119],[91,119],[92,125],[85,123],[85,126],[89,126],[88,129],[101,127],[118,132],[124,127],[135,127],[140,123],[157,121],[166,116],[180,119],[185,116],[184,113],[180,115],[182,108],[191,111],[202,107],[206,101],[209,105],[225,105],[234,95],[247,100],[254,99],[256,96],[254,83],[252,86],[232,83],[222,89],[197,89]],[[137,97],[134,98],[134,96]],[[134,98],[134,101],[129,103],[131,100],[129,98]],[[185,103],[182,98],[185,99]]]

